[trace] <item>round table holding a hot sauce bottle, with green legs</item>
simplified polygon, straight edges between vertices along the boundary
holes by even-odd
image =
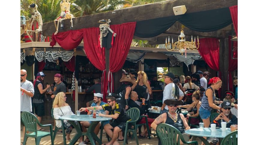
[[[91,141],[92,145],[95,145],[94,139],[96,141],[98,141],[99,144],[102,144],[102,141],[98,138],[97,135],[95,135],[94,133],[94,129],[96,128],[96,126],[98,125],[98,123],[100,121],[106,121],[106,120],[111,120],[112,118],[108,118],[108,117],[99,117],[97,116],[96,118],[93,118],[92,115],[64,115],[59,117],[60,120],[67,120],[68,122],[70,122],[73,127],[76,129],[76,135],[73,137],[72,141],[69,143],[69,145],[73,145],[76,143],[76,141],[82,136],[85,135],[89,138],[89,140]],[[89,128],[87,129],[87,132],[82,132],[81,130],[81,125],[79,123],[79,125],[76,125],[73,121],[91,121],[91,125],[89,126]]]

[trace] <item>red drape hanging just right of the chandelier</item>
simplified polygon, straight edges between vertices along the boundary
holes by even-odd
[[[215,71],[219,71],[219,78],[221,78],[220,72],[220,44],[217,38],[203,38],[199,39],[199,54],[208,66]],[[221,91],[218,90],[219,96]]]

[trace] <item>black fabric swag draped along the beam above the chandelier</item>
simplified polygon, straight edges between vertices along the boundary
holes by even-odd
[[[200,32],[217,31],[232,24],[229,7],[225,7],[215,10],[139,21],[136,23],[134,36],[141,38],[158,36],[170,28],[176,21],[179,21],[191,30]]]

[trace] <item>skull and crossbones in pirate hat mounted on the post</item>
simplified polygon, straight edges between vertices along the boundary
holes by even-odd
[[[98,22],[102,23],[102,24],[99,25],[99,29],[100,29],[99,41],[100,41],[100,47],[102,48],[102,38],[106,37],[109,31],[112,34],[114,34],[114,37],[116,37],[116,33],[110,28],[110,25],[109,25],[109,23],[111,22],[110,19],[108,19],[108,20],[103,19],[103,20],[100,20]]]

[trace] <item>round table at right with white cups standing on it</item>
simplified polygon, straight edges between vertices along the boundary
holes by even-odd
[[[211,132],[211,128],[194,128],[184,131],[184,133],[192,136],[198,137],[205,145],[209,145],[208,141],[203,137],[215,137],[215,138],[225,138],[226,135],[230,133],[230,128],[226,128],[226,131],[222,131],[221,128],[217,129],[215,132]]]

